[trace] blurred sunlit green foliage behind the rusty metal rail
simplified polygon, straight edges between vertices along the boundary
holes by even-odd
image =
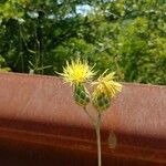
[[[0,43],[1,70],[55,74],[81,56],[98,74],[166,84],[165,0],[1,0]]]

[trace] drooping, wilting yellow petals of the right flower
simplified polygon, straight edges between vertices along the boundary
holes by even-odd
[[[114,80],[114,72],[105,75],[107,70],[97,79],[96,82],[93,82],[93,85],[96,85],[93,96],[98,96],[100,94],[105,94],[108,97],[114,97],[118,92],[122,91],[122,85]]]

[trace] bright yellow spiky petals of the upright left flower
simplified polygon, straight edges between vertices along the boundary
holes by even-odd
[[[87,61],[81,61],[76,59],[71,61],[71,64],[66,62],[66,66],[63,68],[61,73],[65,82],[71,84],[84,83],[94,75],[93,68],[90,68]]]

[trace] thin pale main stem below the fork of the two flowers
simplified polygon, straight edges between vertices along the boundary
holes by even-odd
[[[97,116],[97,123],[95,126],[96,131],[96,141],[97,141],[97,163],[98,166],[102,166],[102,154],[101,154],[101,113]]]

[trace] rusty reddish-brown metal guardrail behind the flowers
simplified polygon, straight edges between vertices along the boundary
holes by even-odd
[[[123,85],[103,116],[104,165],[166,165],[166,86]],[[108,145],[112,131],[115,149]],[[29,165],[34,157],[40,165],[96,165],[95,133],[60,79],[1,73],[0,154],[4,165],[20,155]]]

